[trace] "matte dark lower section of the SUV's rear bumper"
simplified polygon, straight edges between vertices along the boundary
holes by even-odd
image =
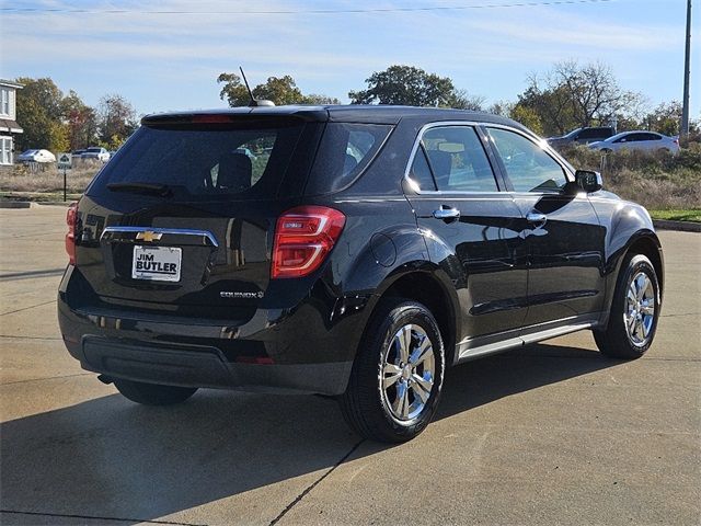
[[[238,364],[216,347],[154,345],[87,336],[79,345],[81,366],[108,378],[182,387],[209,387],[280,393],[341,395],[352,362],[331,364]]]

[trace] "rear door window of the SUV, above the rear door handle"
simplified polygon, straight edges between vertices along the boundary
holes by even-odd
[[[484,148],[471,126],[430,128],[424,134],[422,146],[439,191],[498,191]]]

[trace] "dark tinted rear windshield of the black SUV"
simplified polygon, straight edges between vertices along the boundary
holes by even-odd
[[[195,201],[273,197],[303,126],[298,119],[145,125],[105,165],[89,194],[119,186],[129,192],[130,184],[141,184]]]

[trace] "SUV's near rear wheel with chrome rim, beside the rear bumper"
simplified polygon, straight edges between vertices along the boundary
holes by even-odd
[[[430,311],[383,300],[360,342],[341,410],[365,438],[406,442],[430,422],[443,387],[445,350]]]

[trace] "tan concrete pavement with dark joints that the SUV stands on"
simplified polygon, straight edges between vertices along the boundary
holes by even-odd
[[[589,333],[448,371],[410,444],[360,441],[318,397],[205,390],[143,408],[56,323],[65,209],[0,210],[2,524],[701,524],[701,235],[662,232],[642,359]]]

